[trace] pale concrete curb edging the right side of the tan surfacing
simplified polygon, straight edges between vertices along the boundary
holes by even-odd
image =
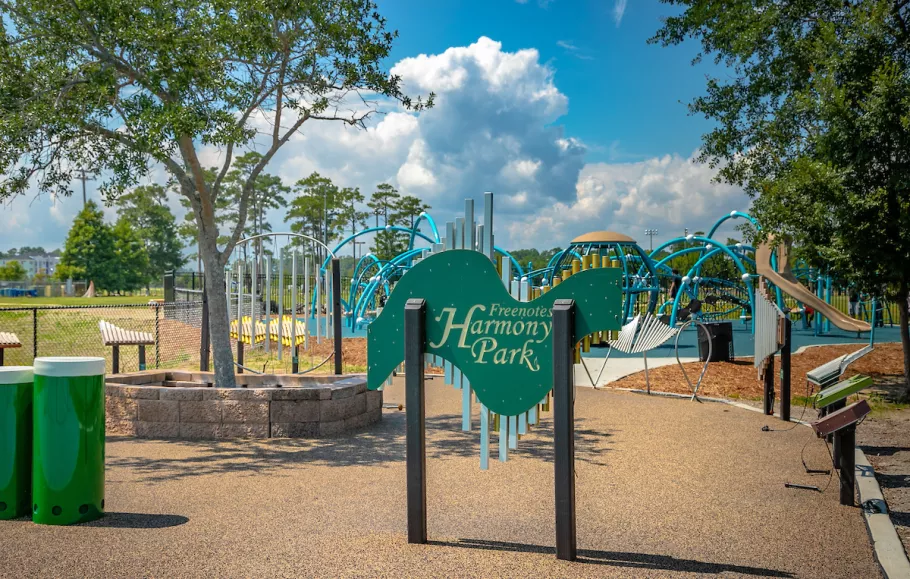
[[[645,394],[645,390],[639,388],[612,388],[620,392],[631,392],[633,394]],[[657,392],[651,391],[652,396],[664,396],[666,398],[684,398],[691,399],[692,395],[677,394],[675,392]],[[724,398],[707,398],[699,397],[702,402],[718,402],[735,406],[753,412],[762,412],[760,408],[734,402]],[[791,422],[797,422],[804,426],[809,426],[808,422],[791,419]],[[866,458],[866,454],[859,448],[856,449],[856,490],[859,495],[859,504],[863,510],[863,520],[866,522],[866,530],[869,532],[869,539],[872,542],[872,549],[875,553],[875,560],[881,567],[882,574],[886,579],[905,579],[910,577],[910,559],[907,558],[907,552],[904,550],[904,544],[901,542],[888,514],[888,505],[885,502],[882,489],[875,478],[875,469]]]

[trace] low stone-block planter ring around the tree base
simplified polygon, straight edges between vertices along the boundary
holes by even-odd
[[[150,370],[105,382],[108,435],[320,438],[382,419],[382,392],[362,376],[238,374],[237,388],[218,388],[211,372]]]

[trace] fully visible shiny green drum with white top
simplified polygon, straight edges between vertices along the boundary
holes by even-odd
[[[32,520],[104,514],[104,358],[35,358]]]

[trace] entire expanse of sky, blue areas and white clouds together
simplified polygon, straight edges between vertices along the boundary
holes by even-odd
[[[384,109],[366,130],[306,123],[267,168],[292,184],[316,171],[367,196],[379,183],[453,220],[464,199],[496,195],[506,248],[565,246],[594,230],[655,243],[748,210],[736,187],[694,162],[711,125],[688,115],[711,64],[697,46],[647,39],[671,7],[656,0],[379,0],[399,38],[388,62],[408,94],[437,94],[421,113]],[[266,128],[266,123],[263,127]],[[222,151],[201,151],[215,165]],[[160,169],[150,181],[163,183]],[[98,198],[95,187],[89,196]],[[0,249],[62,245],[80,196],[0,208]],[[176,199],[172,207],[182,211]],[[114,211],[108,210],[114,217]],[[283,214],[268,215],[286,230]],[[721,234],[726,234],[722,231]]]

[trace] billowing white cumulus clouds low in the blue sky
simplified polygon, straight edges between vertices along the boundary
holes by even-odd
[[[624,10],[625,2],[618,4]],[[714,171],[691,157],[586,164],[584,143],[558,124],[568,98],[535,49],[508,51],[481,37],[405,58],[392,73],[408,94],[435,92],[436,106],[420,113],[387,107],[366,129],[307,122],[266,171],[288,184],[317,171],[339,186],[359,187],[367,198],[388,182],[430,204],[440,225],[463,211],[465,198],[479,201],[493,191],[497,245],[510,248],[565,245],[601,229],[640,238],[644,228],[656,227],[666,238],[683,227],[707,229],[720,215],[748,208],[740,190],[712,184]],[[270,127],[266,119],[259,122]],[[213,149],[200,155],[208,165],[220,160]],[[156,168],[147,180],[164,183],[167,176]],[[96,184],[90,197],[97,199]],[[47,197],[30,201],[0,205],[6,226],[0,249],[62,245],[82,205],[79,193],[56,204]],[[172,207],[182,217],[176,199]],[[283,212],[269,218],[275,231],[287,229]]]

